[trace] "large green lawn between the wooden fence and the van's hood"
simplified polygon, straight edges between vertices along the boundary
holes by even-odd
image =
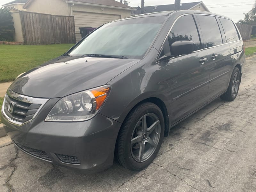
[[[68,51],[74,44],[0,45],[0,83],[13,81],[18,75]]]

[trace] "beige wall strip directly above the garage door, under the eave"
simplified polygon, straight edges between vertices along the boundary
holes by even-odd
[[[90,5],[81,5],[81,4],[75,4],[72,7],[72,9],[73,11],[120,15],[121,19],[131,16],[131,10],[124,10],[124,9],[106,8],[106,7],[98,7],[98,6],[90,6]]]

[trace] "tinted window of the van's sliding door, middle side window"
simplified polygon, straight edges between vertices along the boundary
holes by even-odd
[[[199,25],[207,47],[222,44],[220,28],[215,17],[198,15]]]

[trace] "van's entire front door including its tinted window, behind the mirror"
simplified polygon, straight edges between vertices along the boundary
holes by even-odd
[[[166,41],[171,45],[181,40],[193,41],[194,52],[173,57],[166,65],[170,74],[172,124],[207,103],[209,85],[208,53],[201,43],[193,15],[180,17]]]

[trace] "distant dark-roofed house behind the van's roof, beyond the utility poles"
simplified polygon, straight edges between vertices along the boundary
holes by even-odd
[[[132,15],[137,15],[141,13],[141,9],[139,7],[136,9],[137,9],[136,11],[132,11]],[[199,11],[209,12],[209,9],[205,6],[203,1],[193,2],[193,3],[181,3],[180,10],[199,10]],[[174,11],[174,4],[144,7],[144,13],[154,13],[154,12],[161,12],[161,11]]]

